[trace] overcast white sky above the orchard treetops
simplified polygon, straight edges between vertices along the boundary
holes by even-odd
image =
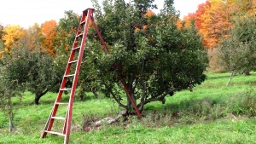
[[[162,8],[164,0],[154,0]],[[195,12],[197,5],[206,0],[174,0],[174,6],[180,11],[181,17]],[[46,20],[59,20],[65,10],[73,10],[82,14],[87,8],[92,8],[90,0],[1,0],[0,24],[32,26],[35,22],[44,23]]]

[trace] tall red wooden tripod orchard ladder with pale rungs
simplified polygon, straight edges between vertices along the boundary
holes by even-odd
[[[64,140],[64,144],[68,143],[69,140],[69,135],[70,135],[70,131],[71,131],[71,120],[72,120],[72,112],[73,112],[73,98],[75,95],[75,89],[78,83],[78,79],[79,79],[79,71],[80,71],[80,66],[81,66],[81,62],[83,59],[83,54],[84,54],[84,46],[85,46],[85,42],[86,42],[86,38],[87,38],[87,34],[88,34],[88,29],[89,29],[89,22],[92,22],[93,27],[96,30],[97,35],[100,37],[101,43],[106,51],[106,53],[109,54],[108,51],[108,47],[106,45],[106,43],[104,42],[101,33],[99,32],[95,20],[93,18],[93,12],[94,9],[85,9],[83,11],[82,14],[82,18],[80,20],[79,23],[79,28],[78,31],[76,33],[76,37],[74,39],[74,43],[73,43],[73,49],[71,49],[71,53],[69,56],[69,59],[67,61],[67,68],[66,71],[64,73],[64,76],[62,78],[62,82],[61,82],[61,88],[59,89],[59,93],[57,95],[57,98],[55,100],[54,106],[52,108],[52,111],[49,114],[49,118],[45,124],[43,133],[41,135],[41,138],[44,138],[47,133],[49,134],[53,134],[53,135],[61,135],[61,136],[65,136],[65,140]],[[79,52],[78,55],[78,59],[74,60],[75,57],[75,53]],[[73,74],[69,74],[69,72],[72,69],[72,65],[76,64],[75,69],[74,69],[74,73]],[[67,88],[66,87],[66,83],[67,83],[67,78],[73,78],[73,84],[71,88]],[[131,93],[129,91],[129,89],[127,88],[127,84],[125,84],[125,82],[120,78],[119,79],[121,84],[123,84],[124,88],[125,88],[125,93],[128,95],[132,106],[134,107],[134,109],[137,112],[137,115],[139,118],[142,118],[142,114],[141,112],[139,112],[135,100],[132,98]],[[69,95],[69,101],[67,102],[61,102],[61,96],[63,94],[64,91],[66,90],[70,90],[70,95]],[[57,117],[56,113],[58,110],[59,106],[67,106],[67,112],[66,112],[66,117]],[[52,127],[54,124],[55,120],[64,120],[64,126],[61,132],[55,132],[52,131]]]

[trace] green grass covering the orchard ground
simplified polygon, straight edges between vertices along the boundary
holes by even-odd
[[[98,100],[88,94],[75,99],[70,143],[256,143],[256,72],[237,75],[226,87],[229,73],[207,73],[207,81],[193,92],[183,90],[166,97],[166,104],[150,103],[144,117],[130,117],[125,123],[103,124],[83,130],[88,119],[116,116],[119,108],[111,99]],[[47,135],[40,139],[56,94],[49,93],[32,104],[26,92],[22,104],[15,104],[15,132],[9,133],[9,120],[0,112],[0,144],[63,143],[63,137]],[[59,110],[65,113],[65,110]],[[86,125],[85,125],[86,126]],[[85,127],[86,128],[86,127]]]

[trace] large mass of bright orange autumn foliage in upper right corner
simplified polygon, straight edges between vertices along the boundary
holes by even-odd
[[[198,5],[195,13],[186,15],[183,20],[189,26],[188,23],[194,19],[198,32],[203,35],[202,42],[208,49],[213,49],[222,37],[228,37],[232,18],[255,13],[255,3],[255,0],[207,0]]]

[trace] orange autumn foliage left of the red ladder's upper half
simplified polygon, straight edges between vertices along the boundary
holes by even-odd
[[[42,44],[42,49],[44,51],[48,51],[49,54],[55,55],[54,49],[54,37],[56,34],[55,27],[57,23],[55,20],[45,21],[44,24],[41,26],[42,33],[44,35],[44,42]]]

